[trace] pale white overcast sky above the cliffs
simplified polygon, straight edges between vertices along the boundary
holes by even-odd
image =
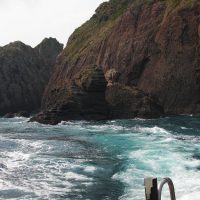
[[[0,0],[0,46],[20,40],[36,46],[45,37],[66,44],[105,0]]]

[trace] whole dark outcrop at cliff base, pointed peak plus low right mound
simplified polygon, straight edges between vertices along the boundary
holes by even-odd
[[[89,65],[62,90],[54,88],[56,98],[49,97],[49,108],[43,108],[31,121],[57,124],[69,120],[162,116],[163,109],[157,101],[137,88],[120,83],[106,85],[102,68]]]

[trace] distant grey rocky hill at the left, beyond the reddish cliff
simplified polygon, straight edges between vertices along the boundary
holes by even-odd
[[[51,48],[52,45],[50,39]],[[42,93],[55,63],[55,57],[62,50],[62,45],[56,40],[54,45],[60,46],[52,52],[54,61],[44,59],[48,39],[44,50],[43,43],[39,45],[40,48],[33,49],[22,42],[13,42],[0,48],[1,115],[19,111],[32,112],[40,108]]]

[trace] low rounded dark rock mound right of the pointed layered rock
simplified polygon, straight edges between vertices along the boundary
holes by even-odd
[[[110,107],[110,118],[154,118],[163,114],[158,101],[136,87],[114,83],[106,91],[106,101]]]

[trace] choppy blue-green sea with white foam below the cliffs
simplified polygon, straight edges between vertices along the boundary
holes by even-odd
[[[0,118],[0,199],[143,200],[144,178],[167,176],[200,200],[200,118],[28,120]]]

